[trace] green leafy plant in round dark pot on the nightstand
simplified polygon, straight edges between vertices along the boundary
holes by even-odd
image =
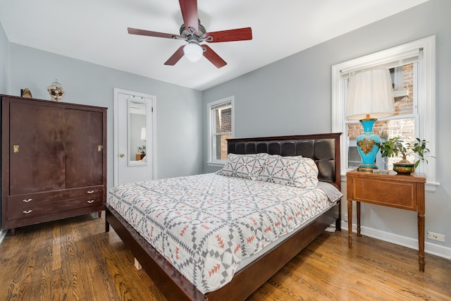
[[[420,161],[426,161],[429,154],[429,149],[426,147],[427,141],[416,138],[415,142],[404,141],[400,137],[393,137],[381,144],[382,156],[395,157],[398,154],[402,155],[402,160],[393,164],[393,171],[401,174],[410,174],[415,171]],[[418,160],[414,163],[407,160],[407,155],[414,154],[418,156]]]

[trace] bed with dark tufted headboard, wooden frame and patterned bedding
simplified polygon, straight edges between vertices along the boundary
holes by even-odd
[[[240,159],[245,156],[250,156],[254,159],[258,158],[260,162],[266,162],[266,165],[261,164],[261,166],[268,166],[268,162],[271,162],[271,160],[280,161],[278,157],[282,156],[284,161],[299,161],[302,162],[302,164],[307,164],[307,169],[315,170],[317,180],[320,182],[318,183],[318,186],[329,185],[337,188],[338,190],[340,190],[339,151],[340,133],[228,140],[229,161],[233,156],[237,156]],[[311,166],[308,165],[310,162],[313,162]],[[228,164],[226,164],[226,166],[228,166]],[[274,215],[278,214],[279,207],[286,207],[290,210],[291,203],[293,202],[292,199],[295,199],[295,202],[297,202],[297,198],[291,197],[290,195],[292,193],[297,193],[292,192],[292,189],[306,190],[302,193],[307,195],[307,199],[313,199],[314,195],[319,195],[320,199],[325,199],[325,197],[321,196],[322,192],[317,192],[316,189],[311,188],[311,185],[316,185],[316,183],[312,182],[312,184],[310,182],[310,176],[307,176],[306,179],[303,175],[301,178],[303,180],[298,181],[301,188],[292,188],[291,186],[299,187],[299,185],[296,183],[295,185],[292,185],[293,183],[285,183],[287,185],[280,185],[280,178],[276,176],[271,178],[271,175],[268,176],[268,174],[265,174],[263,171],[258,171],[255,173],[255,169],[250,172],[252,173],[253,178],[249,178],[249,173],[245,174],[245,176],[237,176],[235,171],[233,171],[233,175],[227,174],[228,169],[226,166],[218,173],[174,178],[175,182],[171,182],[174,181],[171,179],[161,179],[142,183],[130,183],[127,185],[122,185],[121,187],[112,188],[110,190],[109,200],[105,204],[106,231],[109,231],[109,226],[114,228],[116,233],[130,249],[137,261],[140,262],[144,270],[147,271],[154,283],[158,285],[159,289],[163,295],[168,298],[168,300],[244,300],[255,290],[257,290],[259,286],[265,283],[268,278],[271,278],[273,274],[276,274],[279,269],[288,263],[290,259],[295,257],[302,249],[304,249],[304,247],[309,245],[311,241],[317,238],[326,228],[328,228],[328,226],[330,226],[330,224],[335,223],[335,228],[340,230],[340,195],[338,197],[335,195],[334,199],[328,197],[327,199],[330,201],[330,204],[327,204],[327,206],[322,209],[318,209],[319,213],[311,213],[311,216],[307,216],[305,220],[301,220],[300,216],[307,214],[293,213],[292,216],[299,216],[299,221],[297,221],[296,219],[292,219],[292,216],[288,219],[288,214],[284,213],[282,217],[285,216],[287,217],[286,219],[281,222],[277,221],[276,223],[273,223],[273,225],[278,225],[279,228],[277,229],[276,226],[271,228],[267,224],[255,227],[252,226],[252,224],[245,225],[245,222],[241,219],[242,216],[245,216],[247,220],[250,219],[254,221],[254,218],[257,219],[259,216],[267,215],[269,216],[268,221],[273,221]],[[257,166],[257,163],[255,166]],[[264,178],[265,176],[266,178]],[[196,184],[194,185],[193,183],[190,183],[189,181],[191,180],[197,181],[194,182]],[[263,184],[268,181],[273,182],[268,183],[268,185],[272,186]],[[185,219],[194,219],[194,221],[190,221],[190,223],[187,224],[191,227],[189,228],[190,231],[196,224],[199,225],[199,223],[195,223],[195,221],[199,221],[201,218],[206,218],[209,223],[204,226],[204,228],[214,228],[215,231],[218,231],[217,233],[224,234],[224,232],[221,232],[225,231],[224,228],[221,228],[223,226],[221,225],[221,227],[216,227],[216,225],[218,225],[216,222],[219,219],[222,219],[221,214],[228,214],[227,208],[224,208],[223,212],[221,211],[215,216],[215,212],[218,211],[218,209],[211,207],[211,211],[206,211],[204,209],[206,205],[204,204],[202,204],[202,210],[193,211],[192,214],[184,212],[183,208],[181,208],[184,206],[177,205],[179,206],[181,213],[177,210],[178,208],[175,208],[175,213],[173,213],[174,211],[170,211],[172,212],[171,214],[164,216],[164,214],[168,214],[168,207],[172,206],[172,203],[166,202],[166,200],[168,199],[171,201],[172,199],[178,199],[181,194],[180,191],[183,191],[184,196],[189,195],[194,199],[202,199],[202,197],[205,198],[205,196],[202,195],[203,192],[200,191],[204,189],[202,188],[203,186],[197,185],[197,183],[206,183],[206,186],[209,187],[209,192],[211,192],[213,188],[214,193],[216,194],[216,196],[213,197],[217,197],[219,195],[219,197],[232,199],[231,205],[228,204],[226,207],[235,206],[235,209],[238,207],[245,207],[247,204],[245,204],[245,202],[247,202],[247,198],[249,198],[247,192],[251,190],[257,191],[259,193],[259,197],[261,197],[261,195],[265,197],[271,194],[269,199],[268,197],[260,198],[259,204],[272,202],[273,199],[271,198],[277,198],[277,202],[279,202],[279,197],[283,195],[286,195],[288,200],[283,200],[283,203],[280,203],[278,206],[273,206],[271,204],[269,204],[270,206],[266,206],[274,209],[268,214],[265,213],[266,211],[259,211],[252,213],[254,215],[250,215],[251,213],[246,213],[245,208],[242,209],[242,211],[235,209],[235,211],[232,210],[235,212],[235,216],[228,217],[227,221],[234,221],[233,223],[237,221],[236,224],[240,225],[242,229],[233,232],[237,233],[236,236],[245,236],[245,241],[237,242],[235,240],[231,240],[226,241],[225,244],[229,246],[230,250],[239,250],[239,252],[237,252],[239,253],[239,256],[235,256],[234,254],[230,255],[233,252],[229,252],[230,254],[223,253],[223,251],[216,252],[216,249],[208,249],[209,247],[206,246],[205,250],[202,252],[199,251],[199,254],[203,254],[202,258],[199,259],[198,256],[194,256],[194,254],[190,253],[191,251],[187,247],[187,241],[180,242],[179,238],[172,238],[172,236],[175,235],[170,235],[171,244],[181,247],[174,247],[176,251],[171,250],[171,253],[165,253],[165,245],[161,245],[159,242],[154,240],[154,236],[159,236],[158,231],[161,231],[161,229],[159,230],[159,227],[153,226],[152,230],[149,229],[151,228],[147,226],[147,222],[149,221],[145,221],[144,218],[140,216],[141,214],[149,214],[150,217],[147,216],[147,219],[152,219],[152,221],[154,221],[155,216],[160,216],[162,214],[164,221],[168,219],[173,220],[174,214],[181,214],[181,216],[185,216]],[[223,189],[225,186],[233,188],[233,192],[225,192]],[[132,190],[127,190],[129,187],[132,188]],[[173,187],[173,189],[171,189],[171,187]],[[192,189],[187,189],[187,187]],[[262,188],[266,190],[266,192],[261,192]],[[327,189],[319,190],[328,195]],[[228,195],[224,195],[226,193],[228,193]],[[145,203],[144,205],[142,203],[135,202],[134,199],[137,199],[140,195],[152,195],[153,199],[158,198],[159,202],[156,204],[156,207],[161,207],[145,207],[149,206],[149,204]],[[211,197],[211,195],[208,195],[208,197]],[[252,195],[251,198],[254,199],[256,196]],[[211,202],[214,201],[212,200]],[[130,211],[131,207],[137,207],[136,204],[140,204],[137,211]],[[180,204],[185,204],[185,202]],[[196,204],[189,204],[188,207],[192,209],[191,207],[195,207]],[[313,207],[312,204],[309,204],[309,206]],[[315,205],[315,207],[318,206]],[[311,211],[313,211],[313,209],[311,209]],[[242,216],[236,216],[240,214]],[[198,217],[198,219],[196,217]],[[266,223],[268,221],[266,221]],[[280,224],[283,224],[283,226],[280,226]],[[185,233],[185,229],[188,228],[188,226],[183,225],[184,224],[180,222],[180,219],[178,219],[176,222],[171,223],[171,226],[166,225],[165,227],[175,228],[175,230],[180,234]],[[255,225],[257,225],[257,223]],[[191,232],[200,232],[199,230],[203,230],[200,228],[201,227],[197,226],[197,231]],[[259,229],[263,228],[265,231],[259,231]],[[283,233],[283,237],[277,240],[274,238],[274,241],[272,241],[271,231],[266,231],[266,229],[270,229],[273,232]],[[209,231],[212,230],[209,229]],[[249,231],[253,231],[251,233],[252,235],[247,235]],[[262,234],[263,232],[269,233],[269,238],[267,240],[265,240],[266,236]],[[212,238],[230,236],[233,238],[233,235],[228,235],[230,234],[229,232],[225,235],[219,235],[217,233],[201,233],[199,234],[200,238],[194,237],[194,234],[192,233],[190,235],[185,234],[183,239],[192,240],[194,245],[199,246],[207,245],[204,243],[205,240],[208,240],[207,236]],[[243,233],[247,234],[243,235]],[[249,240],[249,237],[254,238],[254,236],[258,236],[261,240],[259,240],[258,243],[253,244],[254,240]],[[152,246],[148,241],[151,241],[154,246]],[[221,243],[224,245],[222,240]],[[166,243],[166,248],[167,246],[168,244]],[[216,271],[216,267],[215,269],[211,269],[209,275],[213,274],[211,278],[214,278],[214,281],[211,284],[213,286],[209,286],[210,284],[206,283],[206,280],[202,278],[204,275],[202,274],[203,272],[199,272],[199,274],[196,274],[197,272],[192,272],[192,274],[194,274],[193,276],[190,274],[191,272],[187,273],[185,271],[186,266],[192,264],[192,262],[184,261],[182,264],[178,262],[178,256],[181,256],[183,252],[185,252],[185,257],[187,255],[192,256],[192,262],[195,263],[193,266],[194,269],[202,269],[204,265],[209,266],[209,264],[211,264],[210,261],[216,260],[216,257],[221,257],[221,260],[225,260],[226,263],[221,264],[221,266],[223,265],[227,268],[222,269],[220,268],[220,264],[217,264],[218,271]],[[249,256],[249,258],[246,258],[246,260],[242,260],[245,264],[241,262],[241,253],[252,255]],[[164,256],[162,254],[164,254]],[[211,256],[209,254],[211,254]],[[235,257],[239,257],[239,260]],[[196,262],[199,262],[200,264],[196,264]],[[235,264],[236,262],[238,263]],[[202,275],[199,276],[200,274]],[[189,281],[187,278],[190,278],[191,280]],[[195,285],[193,283],[195,283]],[[212,288],[214,289],[212,290]]]

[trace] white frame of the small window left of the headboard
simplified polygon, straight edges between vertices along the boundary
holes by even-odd
[[[206,104],[206,111],[208,114],[208,166],[223,166],[226,164],[226,160],[218,160],[214,159],[216,154],[216,139],[214,139],[215,133],[215,115],[214,115],[214,107],[221,106],[222,104],[230,103],[230,111],[231,111],[231,136],[235,137],[235,97],[230,96],[223,99],[216,100],[215,102],[209,102]]]

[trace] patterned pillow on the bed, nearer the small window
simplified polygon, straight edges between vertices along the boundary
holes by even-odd
[[[219,175],[257,180],[268,154],[228,154],[226,165]]]

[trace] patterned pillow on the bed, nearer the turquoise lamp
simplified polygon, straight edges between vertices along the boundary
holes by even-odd
[[[318,166],[314,160],[302,156],[272,155],[266,158],[258,179],[299,188],[315,188],[318,184]]]

